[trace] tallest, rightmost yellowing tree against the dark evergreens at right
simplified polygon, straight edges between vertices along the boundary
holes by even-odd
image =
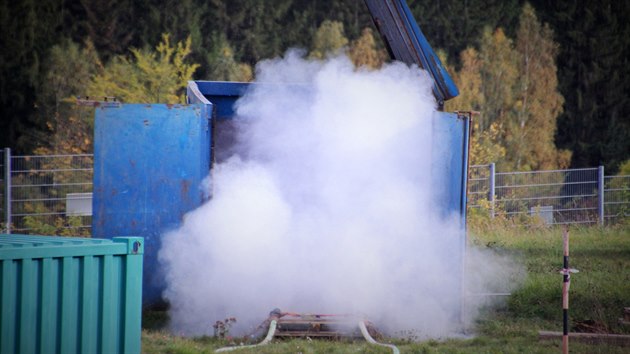
[[[568,166],[570,153],[554,144],[556,120],[564,98],[558,91],[558,45],[548,25],[542,25],[534,8],[525,3],[516,37],[518,80],[515,112],[506,122],[506,148],[517,170]]]

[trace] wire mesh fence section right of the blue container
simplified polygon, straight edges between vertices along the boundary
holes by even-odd
[[[630,213],[630,176],[604,176],[604,168],[496,172],[471,166],[469,208],[494,217],[538,215],[548,224],[603,224]]]

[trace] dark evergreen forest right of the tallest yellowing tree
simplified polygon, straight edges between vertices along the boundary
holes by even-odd
[[[572,167],[614,173],[630,154],[630,3],[535,1],[555,27],[564,113],[557,142]]]

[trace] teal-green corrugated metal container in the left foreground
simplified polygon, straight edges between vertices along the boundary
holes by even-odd
[[[0,235],[0,353],[140,353],[140,237]]]

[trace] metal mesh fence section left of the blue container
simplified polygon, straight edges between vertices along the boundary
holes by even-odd
[[[3,155],[6,233],[90,234],[93,155]]]

